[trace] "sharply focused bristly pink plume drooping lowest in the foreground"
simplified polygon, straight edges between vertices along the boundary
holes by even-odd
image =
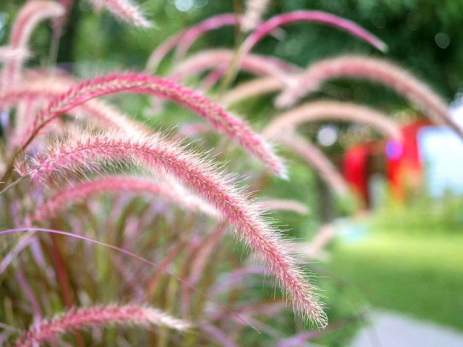
[[[259,205],[235,187],[232,177],[179,143],[160,135],[144,141],[127,139],[120,133],[87,135],[55,143],[33,159],[27,174],[38,184],[60,172],[98,170],[126,163],[136,163],[162,177],[173,177],[214,206],[224,221],[235,227],[237,238],[269,265],[270,273],[287,293],[295,311],[317,325],[326,324],[318,301],[320,295],[315,293],[316,288],[298,266],[280,232],[262,218]]]

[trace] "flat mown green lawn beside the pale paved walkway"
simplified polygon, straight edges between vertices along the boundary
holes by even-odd
[[[371,304],[463,331],[463,234],[369,231],[330,251],[327,267]]]

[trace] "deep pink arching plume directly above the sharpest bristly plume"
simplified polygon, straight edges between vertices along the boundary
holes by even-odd
[[[227,134],[239,142],[246,150],[259,158],[266,167],[280,177],[286,177],[282,160],[273,153],[271,145],[260,135],[253,132],[241,118],[224,111],[224,108],[212,103],[194,90],[175,84],[169,79],[147,75],[144,72],[119,73],[99,76],[70,88],[50,101],[47,107],[35,118],[28,131],[29,142],[47,123],[88,100],[108,94],[131,92],[147,93],[185,105],[192,111],[209,120],[217,131]],[[27,145],[26,142],[23,144]]]

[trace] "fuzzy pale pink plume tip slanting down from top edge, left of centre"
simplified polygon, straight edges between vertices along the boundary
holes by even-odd
[[[120,22],[132,24],[140,28],[150,28],[152,24],[145,18],[140,7],[130,0],[87,0],[97,10],[108,9]]]

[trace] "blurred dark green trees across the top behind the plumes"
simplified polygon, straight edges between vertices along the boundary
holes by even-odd
[[[0,11],[8,13],[10,19],[14,18],[23,3],[2,0]],[[108,14],[95,14],[86,2],[76,1],[61,40],[58,61],[82,64],[92,61],[93,69],[97,69],[95,61],[99,61],[101,69],[114,66],[141,69],[150,52],[171,34],[208,16],[234,11],[231,0],[209,1],[204,7],[193,6],[185,12],[177,10],[173,0],[142,3],[156,28],[139,31],[123,27]],[[339,30],[308,23],[285,26],[283,39],[266,38],[255,51],[272,54],[300,66],[341,53],[371,53],[409,68],[449,100],[463,87],[463,3],[459,0],[274,0],[266,17],[299,9],[323,10],[355,21],[385,41],[389,52],[382,54]],[[46,25],[42,25],[41,30],[33,36],[32,47],[39,54],[39,61],[41,54],[47,53],[49,35],[44,34],[46,29]],[[7,25],[2,40],[8,37],[8,30]],[[192,51],[208,47],[233,47],[234,33],[230,27],[207,33],[193,45]],[[440,48],[437,45],[438,33],[449,36],[448,47]],[[365,89],[363,86],[363,92]],[[356,93],[361,102],[378,105],[381,101],[386,109],[391,102],[403,105],[403,101],[393,94],[384,98],[381,88],[373,92],[369,88],[366,90],[368,95]],[[333,89],[333,92],[341,93],[340,96],[344,98],[355,98],[337,89]]]

